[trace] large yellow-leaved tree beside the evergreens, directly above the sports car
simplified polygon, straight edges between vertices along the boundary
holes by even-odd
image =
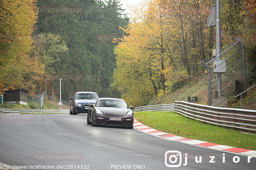
[[[145,11],[135,10],[135,21],[123,28],[129,36],[119,41],[114,52],[117,68],[112,87],[134,106],[165,90],[164,70],[172,63],[163,9],[153,1],[147,5]]]

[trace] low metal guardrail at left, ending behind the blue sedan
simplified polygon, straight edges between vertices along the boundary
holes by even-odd
[[[0,109],[0,112],[17,112],[21,114],[58,114],[58,113],[69,113],[69,110],[57,110],[57,109]]]

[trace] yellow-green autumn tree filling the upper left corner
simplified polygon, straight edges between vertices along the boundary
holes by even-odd
[[[22,83],[23,66],[31,49],[36,18],[35,0],[0,1],[0,89],[26,88]]]

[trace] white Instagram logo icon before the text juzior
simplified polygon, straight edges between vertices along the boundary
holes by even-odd
[[[180,151],[167,151],[167,152],[165,152],[165,154],[164,154],[164,163],[167,167],[179,167],[181,165],[181,153],[180,153]]]

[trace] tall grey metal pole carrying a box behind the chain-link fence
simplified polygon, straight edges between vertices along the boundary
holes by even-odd
[[[220,60],[220,0],[216,0],[216,60]],[[221,95],[221,73],[217,73],[217,91]]]

